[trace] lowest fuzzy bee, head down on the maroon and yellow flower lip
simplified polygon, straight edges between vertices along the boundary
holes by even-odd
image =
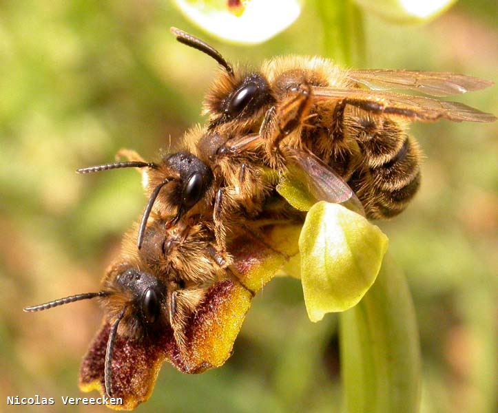
[[[214,238],[204,224],[193,224],[188,235],[178,224],[150,224],[143,248],[136,248],[139,225],[123,237],[121,255],[111,264],[95,293],[83,293],[24,308],[48,310],[83,299],[98,299],[110,325],[104,362],[104,388],[112,396],[112,361],[116,340],[154,340],[171,334],[180,352],[188,351],[186,329],[211,286],[233,273],[211,257]],[[183,242],[172,240],[185,237]],[[165,245],[169,242],[169,246]]]

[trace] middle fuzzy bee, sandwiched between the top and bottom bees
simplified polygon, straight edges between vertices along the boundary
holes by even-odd
[[[245,142],[252,138],[243,137]],[[248,145],[240,150],[227,146],[231,134],[219,134],[196,126],[185,134],[185,150],[163,153],[159,162],[146,162],[138,153],[122,149],[118,157],[127,162],[114,162],[77,169],[78,173],[94,173],[112,169],[137,168],[143,171],[143,187],[148,198],[137,236],[137,247],[143,245],[147,222],[165,220],[165,228],[174,228],[183,219],[183,238],[191,218],[212,222],[216,238],[215,259],[229,262],[227,231],[247,218],[255,218],[272,189],[264,178],[264,167],[258,164],[258,153]],[[240,145],[239,145],[240,146]],[[268,175],[271,177],[271,174]],[[178,242],[170,240],[171,242]],[[170,242],[170,244],[171,244]]]

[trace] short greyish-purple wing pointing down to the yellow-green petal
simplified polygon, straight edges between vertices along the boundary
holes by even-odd
[[[352,209],[364,215],[364,209],[353,189],[329,165],[309,151],[287,148],[292,165],[298,167],[300,178],[307,184],[309,192],[318,201],[351,205]]]

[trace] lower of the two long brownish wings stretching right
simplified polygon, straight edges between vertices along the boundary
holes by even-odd
[[[393,92],[380,92],[365,89],[336,89],[331,87],[313,87],[315,99],[332,99],[344,101],[348,105],[360,107],[374,114],[401,116],[403,118],[435,122],[439,119],[461,122],[494,122],[496,117],[479,109],[459,102],[447,102],[410,96]]]

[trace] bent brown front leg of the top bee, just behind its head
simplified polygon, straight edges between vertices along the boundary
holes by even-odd
[[[311,105],[311,87],[303,83],[282,105],[271,107],[264,116],[260,136],[264,142],[267,161],[272,168],[282,169],[284,156],[280,142],[302,125]]]

